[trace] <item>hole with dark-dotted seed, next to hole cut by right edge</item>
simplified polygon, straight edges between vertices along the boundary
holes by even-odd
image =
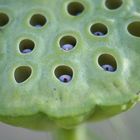
[[[90,31],[95,36],[104,36],[107,34],[108,29],[104,24],[96,23],[91,26]]]

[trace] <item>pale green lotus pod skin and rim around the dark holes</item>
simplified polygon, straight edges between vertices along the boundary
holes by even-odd
[[[71,128],[89,120],[106,119],[132,107],[140,91],[140,38],[127,26],[140,20],[140,1],[124,0],[117,10],[105,7],[104,0],[76,0],[85,6],[79,16],[66,7],[72,0],[0,0],[0,11],[9,23],[0,29],[0,120],[32,129]],[[47,24],[36,29],[29,24],[31,15],[41,13]],[[108,34],[90,33],[93,23],[104,23]],[[64,35],[77,39],[76,47],[64,52],[59,40]],[[32,53],[22,55],[21,39],[35,41]],[[117,71],[103,71],[98,57],[109,53],[116,58]],[[73,69],[70,83],[54,75],[59,65]],[[32,75],[16,83],[18,66],[30,66]]]

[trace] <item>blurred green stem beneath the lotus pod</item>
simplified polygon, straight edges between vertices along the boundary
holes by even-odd
[[[85,125],[72,129],[57,129],[54,132],[53,140],[89,140],[86,132]]]

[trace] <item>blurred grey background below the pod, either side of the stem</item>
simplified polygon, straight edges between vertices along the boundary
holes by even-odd
[[[106,121],[88,124],[88,129],[99,140],[140,140],[140,104]],[[0,140],[52,139],[47,132],[36,132],[0,123]]]

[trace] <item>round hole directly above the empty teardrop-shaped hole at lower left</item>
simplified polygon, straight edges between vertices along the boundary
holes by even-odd
[[[24,39],[19,44],[20,52],[23,54],[32,52],[34,47],[35,47],[35,43],[29,39]]]

